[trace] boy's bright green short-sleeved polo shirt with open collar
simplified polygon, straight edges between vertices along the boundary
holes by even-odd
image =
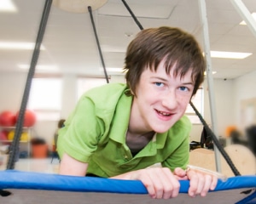
[[[125,84],[93,88],[79,99],[59,131],[58,152],[89,163],[87,173],[112,177],[161,162],[172,171],[189,162],[191,123],[183,116],[166,133],[157,133],[136,156],[125,144],[132,97]]]

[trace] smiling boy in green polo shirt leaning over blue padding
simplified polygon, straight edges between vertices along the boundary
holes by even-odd
[[[190,196],[214,190],[216,177],[184,170],[191,124],[183,114],[205,71],[195,38],[166,26],[143,30],[124,69],[126,84],[85,93],[61,128],[60,173],[141,180],[152,198],[177,196],[179,179],[190,180]]]

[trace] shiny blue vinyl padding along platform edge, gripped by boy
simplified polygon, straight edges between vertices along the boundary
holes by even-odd
[[[181,180],[180,184],[180,193],[187,193],[189,190],[189,181]],[[228,178],[225,182],[219,180],[214,191],[243,188],[256,188],[256,176],[236,176]],[[49,173],[21,172],[15,170],[0,171],[0,189],[148,194],[143,183],[137,180],[74,177]]]

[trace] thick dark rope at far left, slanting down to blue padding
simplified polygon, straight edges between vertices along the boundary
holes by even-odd
[[[41,19],[39,30],[38,30],[38,37],[37,37],[35,48],[34,48],[34,51],[32,54],[32,61],[31,61],[30,69],[29,69],[27,77],[26,77],[26,86],[25,86],[23,98],[21,101],[19,116],[18,116],[16,128],[15,128],[15,137],[10,146],[9,161],[7,164],[7,169],[15,168],[15,156],[19,149],[20,135],[22,133],[24,116],[25,116],[25,112],[26,112],[26,104],[27,104],[27,100],[29,97],[29,93],[30,93],[30,88],[31,88],[31,84],[32,84],[32,78],[33,78],[34,72],[35,72],[35,67],[38,63],[40,46],[43,41],[44,31],[45,31],[45,27],[46,27],[47,20],[49,17],[49,10],[51,7],[51,3],[52,3],[52,0],[46,0],[45,4],[44,4],[44,12],[42,14],[42,19]]]

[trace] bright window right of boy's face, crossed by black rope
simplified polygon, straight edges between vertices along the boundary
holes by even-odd
[[[203,116],[203,110],[204,110],[204,94],[203,94],[203,88],[199,88],[195,94],[195,96],[191,99],[193,105],[195,105],[195,108],[197,111],[200,112],[201,116]],[[191,105],[188,105],[187,110],[185,112],[186,116],[189,117],[190,122],[192,124],[201,124],[201,121],[199,117],[196,115],[194,109],[191,107]]]

